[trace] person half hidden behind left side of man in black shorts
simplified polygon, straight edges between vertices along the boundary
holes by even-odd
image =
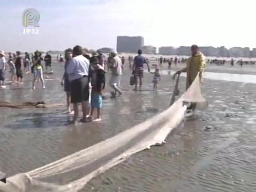
[[[66,98],[67,98],[67,108],[68,108],[68,113],[70,115],[74,114],[74,111],[71,110],[70,107],[70,82],[68,80],[68,74],[67,74],[67,67],[68,67],[68,63],[70,62],[70,60],[72,59],[72,49],[68,48],[67,50],[65,50],[65,64],[64,64],[64,74],[63,74],[63,78],[61,81],[61,86],[64,86],[64,91],[66,92]]]

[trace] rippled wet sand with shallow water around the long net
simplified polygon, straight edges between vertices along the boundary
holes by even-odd
[[[55,64],[52,78],[61,78]],[[30,75],[28,75],[30,76]],[[153,92],[152,75],[145,74],[143,90],[128,86],[110,99],[107,86],[102,122],[67,126],[65,106],[46,109],[0,108],[0,170],[8,176],[27,172],[87,148],[136,125],[168,107],[174,82],[162,76]],[[180,90],[184,91],[185,78]],[[46,81],[46,90],[31,89],[31,82],[0,90],[0,101],[65,102],[59,81]],[[98,192],[241,192],[256,191],[256,85],[206,79],[207,110],[187,118],[166,139],[164,146],[135,154],[92,179],[82,191]],[[243,85],[243,86],[242,86]],[[121,142],[121,141],[120,141]]]

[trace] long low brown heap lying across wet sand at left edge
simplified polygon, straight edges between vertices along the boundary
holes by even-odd
[[[57,107],[57,106],[63,106],[66,105],[65,103],[57,103],[57,104],[45,104],[44,101],[38,101],[38,102],[24,102],[24,103],[10,103],[10,102],[1,102],[0,101],[0,107],[9,107],[9,108],[16,108],[16,109],[22,109],[22,108],[48,108],[48,107]]]

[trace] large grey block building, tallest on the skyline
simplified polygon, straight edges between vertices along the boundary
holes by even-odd
[[[142,46],[144,46],[142,36],[117,36],[117,52],[136,53]]]

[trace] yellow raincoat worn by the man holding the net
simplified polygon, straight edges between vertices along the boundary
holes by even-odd
[[[186,88],[188,88],[192,84],[198,72],[201,72],[202,75],[204,70],[205,57],[201,52],[198,52],[198,54],[196,54],[195,56],[191,56],[190,58],[188,58],[186,67],[180,70],[180,72],[187,73]]]

